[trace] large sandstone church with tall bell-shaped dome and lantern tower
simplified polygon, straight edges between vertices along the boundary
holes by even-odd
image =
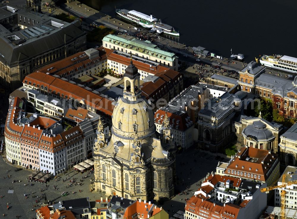
[[[108,142],[102,121],[98,123],[95,189],[130,199],[170,198],[174,195],[175,158],[164,150],[174,146],[170,127],[157,137],[151,105],[141,96],[139,76],[131,59],[124,73],[124,95],[113,109]]]

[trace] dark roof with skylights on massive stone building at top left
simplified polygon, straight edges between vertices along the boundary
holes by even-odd
[[[7,12],[2,9],[0,10],[0,14],[2,11]],[[26,29],[15,31],[13,33],[11,33],[4,26],[0,25],[0,59],[4,63],[7,62],[8,65],[12,65],[13,63],[25,59],[30,59],[38,54],[42,54],[43,52],[52,50],[53,48],[56,48],[58,46],[61,47],[61,45],[65,44],[64,34],[66,34],[66,41],[73,40],[80,35],[82,36],[86,34],[79,28],[79,22],[67,23],[44,14],[32,12],[27,9],[20,9],[14,13],[11,12],[10,14],[6,15],[6,17],[10,18],[16,16],[16,20],[18,21],[19,15],[30,18],[31,20],[35,20],[35,24],[29,26]],[[37,21],[39,21],[38,24]],[[52,21],[60,23],[63,26],[60,28],[52,26]],[[33,30],[33,32],[39,32],[40,35],[35,34],[34,37],[26,37],[26,35],[30,35],[26,34],[26,31],[33,28],[40,28],[41,26],[45,28],[41,28],[44,33],[42,33],[41,31]],[[6,38],[12,35],[16,35],[20,39],[24,39],[26,41],[22,42],[20,45],[13,45],[12,42]]]

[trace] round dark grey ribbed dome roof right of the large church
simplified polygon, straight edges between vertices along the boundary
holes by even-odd
[[[248,125],[242,132],[249,137],[255,138],[255,140],[265,140],[273,137],[273,133],[266,128],[266,124],[260,120],[253,122],[252,125]]]

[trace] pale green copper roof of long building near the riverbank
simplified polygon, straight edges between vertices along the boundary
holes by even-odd
[[[141,53],[145,53],[145,54],[154,56],[159,59],[164,59],[164,60],[173,62],[176,58],[174,53],[170,53],[170,52],[161,50],[157,47],[157,45],[151,43],[148,40],[142,41],[142,40],[138,40],[136,38],[133,38],[132,40],[127,40],[123,37],[118,37],[118,36],[115,36],[112,34],[108,34],[107,36],[105,36],[103,38],[102,41],[109,42],[110,40],[112,40],[111,41],[112,43],[114,43],[113,41],[116,41],[115,44],[117,44],[118,42],[120,42],[120,45],[121,45],[121,43],[124,43],[123,46],[126,47],[126,45],[127,45],[128,49],[132,49],[132,50],[135,50],[135,51],[138,51]],[[130,46],[132,46],[132,48],[130,48]],[[138,48],[138,50],[136,50],[136,48]]]

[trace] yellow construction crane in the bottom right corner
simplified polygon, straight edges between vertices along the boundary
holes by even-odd
[[[268,186],[266,188],[262,188],[261,192],[268,192],[270,190],[274,190],[274,189],[279,189],[282,188],[281,190],[281,206],[280,206],[280,219],[286,219],[286,186],[287,185],[292,185],[292,184],[297,184],[297,180],[293,180],[291,182],[286,182],[286,175],[283,174],[282,175],[282,185],[275,185],[275,186]]]

